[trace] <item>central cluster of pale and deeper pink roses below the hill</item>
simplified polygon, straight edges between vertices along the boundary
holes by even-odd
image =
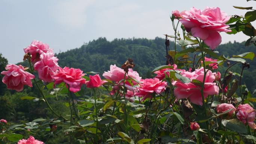
[[[137,71],[133,71],[129,68],[128,73],[125,73],[122,68],[119,68],[116,65],[110,65],[110,71],[105,71],[103,76],[116,83],[111,94],[118,91],[119,86],[124,85],[127,88],[127,93],[125,95],[125,98],[127,99],[134,95],[143,97],[142,100],[152,98],[154,92],[160,94],[167,86],[167,82],[159,80],[156,77],[154,79],[141,79]]]

